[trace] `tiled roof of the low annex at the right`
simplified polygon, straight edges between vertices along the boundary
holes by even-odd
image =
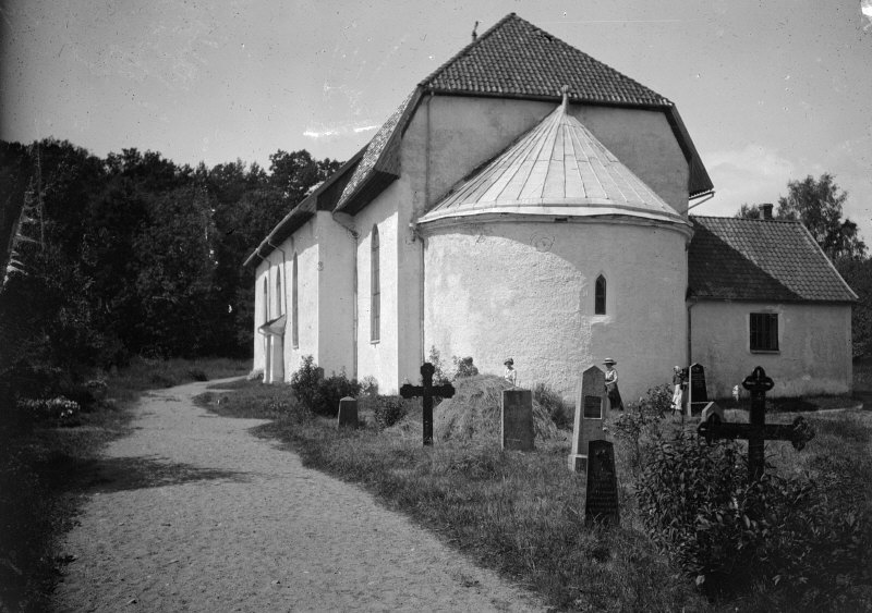
[[[691,216],[690,295],[703,299],[853,302],[857,295],[798,221]]]

